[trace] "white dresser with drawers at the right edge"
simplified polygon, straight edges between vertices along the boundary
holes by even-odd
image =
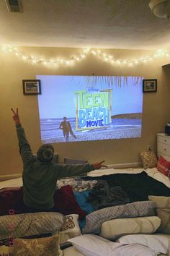
[[[164,133],[157,133],[157,155],[162,155],[170,161],[170,136]]]

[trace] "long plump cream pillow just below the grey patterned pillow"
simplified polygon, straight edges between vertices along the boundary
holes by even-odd
[[[116,218],[102,223],[100,236],[115,239],[125,234],[152,234],[161,224],[157,216]]]

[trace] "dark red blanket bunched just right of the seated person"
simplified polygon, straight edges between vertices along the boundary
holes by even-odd
[[[70,185],[61,187],[55,191],[54,196],[55,210],[63,215],[78,214],[80,219],[85,218],[86,212],[81,210],[73,195],[73,189]]]

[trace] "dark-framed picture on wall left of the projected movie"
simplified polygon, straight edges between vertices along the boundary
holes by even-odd
[[[22,80],[24,95],[41,94],[40,80]]]

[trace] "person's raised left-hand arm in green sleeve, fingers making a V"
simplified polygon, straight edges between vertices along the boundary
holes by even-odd
[[[34,158],[34,156],[32,154],[32,150],[30,148],[29,142],[27,141],[26,135],[24,133],[24,128],[22,127],[22,125],[20,123],[18,108],[16,111],[14,111],[13,108],[11,108],[11,109],[14,114],[12,116],[12,118],[14,119],[14,123],[17,128],[17,137],[18,137],[18,141],[19,141],[19,152],[22,156],[23,163],[27,164],[27,162],[32,160],[32,158]]]

